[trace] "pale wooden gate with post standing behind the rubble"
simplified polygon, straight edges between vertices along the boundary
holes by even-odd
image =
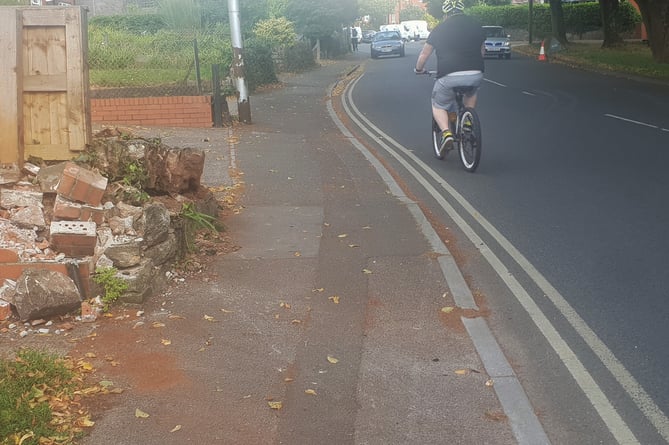
[[[0,8],[0,163],[66,160],[91,138],[86,13]]]

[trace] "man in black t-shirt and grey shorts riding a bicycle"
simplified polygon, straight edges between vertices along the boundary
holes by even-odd
[[[474,87],[464,97],[466,107],[476,106],[478,87],[483,81],[485,33],[473,17],[463,14],[462,0],[446,0],[441,7],[444,21],[430,32],[416,61],[416,74],[425,72],[427,59],[437,52],[437,81],[432,89],[432,116],[441,130],[441,149],[450,150],[453,133],[448,113],[455,113],[454,87]]]

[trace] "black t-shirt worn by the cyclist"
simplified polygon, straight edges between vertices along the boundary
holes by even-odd
[[[483,71],[481,24],[465,14],[451,16],[430,32],[427,43],[437,52],[437,77],[456,71]]]

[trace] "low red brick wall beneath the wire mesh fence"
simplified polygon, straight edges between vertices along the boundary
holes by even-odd
[[[211,97],[91,99],[91,120],[101,124],[211,127]]]

